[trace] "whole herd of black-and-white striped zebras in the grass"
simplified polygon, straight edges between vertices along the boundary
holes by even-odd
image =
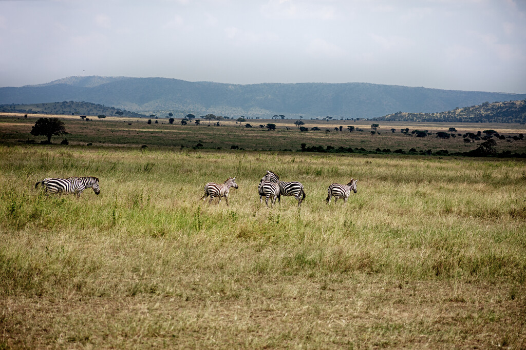
[[[347,185],[331,184],[327,189],[327,198],[325,199],[327,204],[330,204],[330,200],[334,197],[334,201],[339,198],[343,198],[343,203],[347,203],[347,199],[352,192],[356,193],[356,183],[358,180],[352,179]],[[75,194],[77,198],[80,194],[88,187],[93,188],[96,195],[100,193],[99,179],[94,176],[85,177],[68,177],[68,178],[45,178],[35,184],[35,188],[38,184],[42,184],[46,193],[54,194]],[[221,198],[225,197],[225,201],[228,204],[228,198],[230,196],[230,188],[238,188],[235,177],[229,177],[222,184],[216,184],[213,182],[205,185],[205,194],[201,197],[201,200],[206,200],[210,196],[209,203],[218,198],[218,204],[221,202]],[[265,204],[268,207],[268,202],[272,206],[276,204],[276,199],[281,202],[281,196],[294,196],[298,201],[298,207],[301,202],[307,197],[305,189],[300,182],[297,181],[280,181],[279,176],[271,171],[267,170],[265,176],[261,178],[258,185],[259,203],[262,203],[262,197],[265,197]]]

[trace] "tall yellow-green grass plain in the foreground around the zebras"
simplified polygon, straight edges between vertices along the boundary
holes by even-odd
[[[0,349],[526,347],[523,160],[27,145],[6,123]],[[300,208],[259,203],[267,169]],[[100,195],[35,189],[51,176]],[[199,200],[229,176],[229,207]]]

